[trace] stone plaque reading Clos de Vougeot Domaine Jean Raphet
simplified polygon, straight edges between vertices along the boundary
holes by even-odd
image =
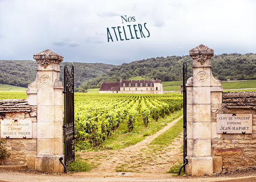
[[[252,133],[252,114],[217,114],[217,133]]]

